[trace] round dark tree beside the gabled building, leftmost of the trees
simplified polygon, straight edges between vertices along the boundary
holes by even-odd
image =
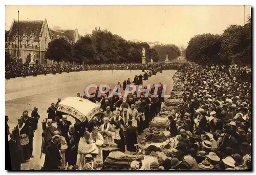
[[[72,45],[65,38],[54,39],[49,42],[45,58],[57,62],[62,60],[70,62],[76,61],[73,58]]]

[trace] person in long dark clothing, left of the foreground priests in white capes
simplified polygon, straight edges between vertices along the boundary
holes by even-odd
[[[80,140],[80,135],[75,131],[73,125],[69,127],[68,136],[65,138],[68,143],[68,149],[66,150],[66,160],[69,165],[76,165],[78,143]]]

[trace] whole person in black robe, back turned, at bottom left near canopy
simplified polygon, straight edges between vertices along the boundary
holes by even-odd
[[[61,156],[59,153],[61,137],[55,135],[46,147],[45,164],[42,169],[44,170],[56,170],[61,166]]]

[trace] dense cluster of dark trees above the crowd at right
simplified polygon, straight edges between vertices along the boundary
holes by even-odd
[[[244,26],[231,25],[221,35],[201,34],[190,39],[186,58],[201,64],[251,64],[251,16]]]

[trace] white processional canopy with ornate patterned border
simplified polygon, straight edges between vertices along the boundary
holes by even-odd
[[[86,118],[90,121],[94,115],[101,112],[98,104],[80,97],[68,97],[59,102],[57,111],[67,113],[81,122]]]

